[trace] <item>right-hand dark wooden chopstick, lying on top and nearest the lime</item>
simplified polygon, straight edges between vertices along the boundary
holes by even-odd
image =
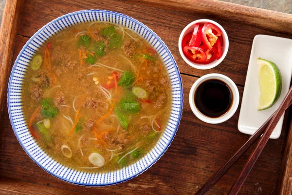
[[[274,116],[272,117],[272,119],[271,119],[268,127],[266,128],[263,136],[260,137],[260,139],[256,145],[255,150],[253,151],[252,155],[248,158],[247,162],[244,165],[244,168],[241,170],[239,176],[237,177],[236,181],[234,182],[234,184],[229,192],[229,195],[237,195],[237,193],[239,192],[246,177],[248,176],[248,174],[252,170],[253,166],[255,165],[258,156],[260,155],[260,153],[264,149],[271,134],[273,133],[274,128],[276,127],[278,121],[280,120],[280,118],[284,114],[285,110],[288,108],[288,105],[290,104],[291,100],[292,100],[292,87],[290,87],[289,92],[287,93],[287,95],[285,96],[285,98],[281,102],[281,105],[279,106],[279,108],[275,112]]]

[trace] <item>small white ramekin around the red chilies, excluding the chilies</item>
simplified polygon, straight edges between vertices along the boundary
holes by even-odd
[[[200,23],[200,24],[205,24],[205,23],[212,23],[216,26],[219,27],[219,29],[222,31],[222,38],[223,38],[223,46],[222,46],[222,56],[220,59],[215,59],[214,61],[208,63],[208,64],[198,64],[198,63],[194,63],[191,60],[187,59],[187,57],[183,54],[183,48],[182,48],[182,42],[183,42],[183,38],[185,35],[192,33],[194,31],[194,27],[195,24]],[[221,63],[221,61],[225,58],[227,51],[228,51],[228,47],[229,47],[229,40],[228,40],[228,36],[226,31],[224,30],[224,28],[217,23],[216,21],[213,20],[208,20],[208,19],[200,19],[200,20],[195,20],[191,23],[189,23],[182,31],[181,35],[180,35],[180,39],[179,39],[179,50],[180,50],[180,54],[183,58],[183,60],[190,66],[197,68],[197,69],[201,69],[201,70],[207,70],[207,69],[211,69],[214,68],[215,66],[217,66],[219,63]]]

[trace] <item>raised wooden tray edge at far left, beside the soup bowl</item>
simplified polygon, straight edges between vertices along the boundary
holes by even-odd
[[[0,117],[7,90],[22,0],[7,0],[0,27]]]

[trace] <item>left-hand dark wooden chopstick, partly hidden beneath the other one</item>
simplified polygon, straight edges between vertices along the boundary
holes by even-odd
[[[292,104],[290,101],[287,108]],[[195,195],[204,195],[208,192],[218,181],[219,179],[234,165],[234,163],[242,156],[255,142],[256,140],[264,133],[266,127],[270,123],[272,117],[276,112],[273,113],[258,129],[257,131],[246,141],[246,143],[218,170],[214,176],[212,176]]]

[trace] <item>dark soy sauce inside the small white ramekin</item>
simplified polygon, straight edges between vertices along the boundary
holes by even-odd
[[[221,117],[227,113],[233,102],[230,87],[218,79],[202,82],[195,91],[195,104],[206,117]]]

